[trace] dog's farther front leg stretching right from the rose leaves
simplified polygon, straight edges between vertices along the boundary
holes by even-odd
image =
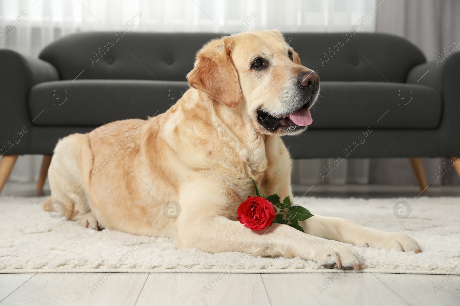
[[[406,234],[367,228],[344,218],[315,215],[299,222],[299,225],[304,228],[305,233],[352,245],[372,246],[386,250],[414,250],[415,253],[422,251],[417,241]]]

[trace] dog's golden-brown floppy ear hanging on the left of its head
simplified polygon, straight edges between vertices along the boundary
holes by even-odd
[[[241,88],[230,56],[231,38],[207,43],[197,54],[195,67],[187,74],[190,87],[204,91],[230,108],[241,101]]]

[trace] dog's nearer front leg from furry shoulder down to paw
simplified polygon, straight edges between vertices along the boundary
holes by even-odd
[[[357,252],[350,245],[305,234],[284,224],[253,231],[222,216],[224,207],[231,206],[223,194],[210,192],[206,186],[199,185],[190,195],[180,197],[182,213],[176,220],[175,235],[179,248],[196,247],[211,253],[236,251],[255,256],[298,256],[325,267],[361,266]]]

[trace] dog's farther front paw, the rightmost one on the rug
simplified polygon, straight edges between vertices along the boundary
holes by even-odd
[[[370,246],[378,249],[397,249],[403,252],[414,250],[415,253],[420,253],[422,249],[414,238],[406,234],[382,232],[370,242]]]

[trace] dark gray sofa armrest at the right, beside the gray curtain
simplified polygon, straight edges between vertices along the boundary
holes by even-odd
[[[443,61],[431,61],[412,68],[406,82],[431,86],[443,97],[439,143],[446,156],[460,156],[460,52]]]

